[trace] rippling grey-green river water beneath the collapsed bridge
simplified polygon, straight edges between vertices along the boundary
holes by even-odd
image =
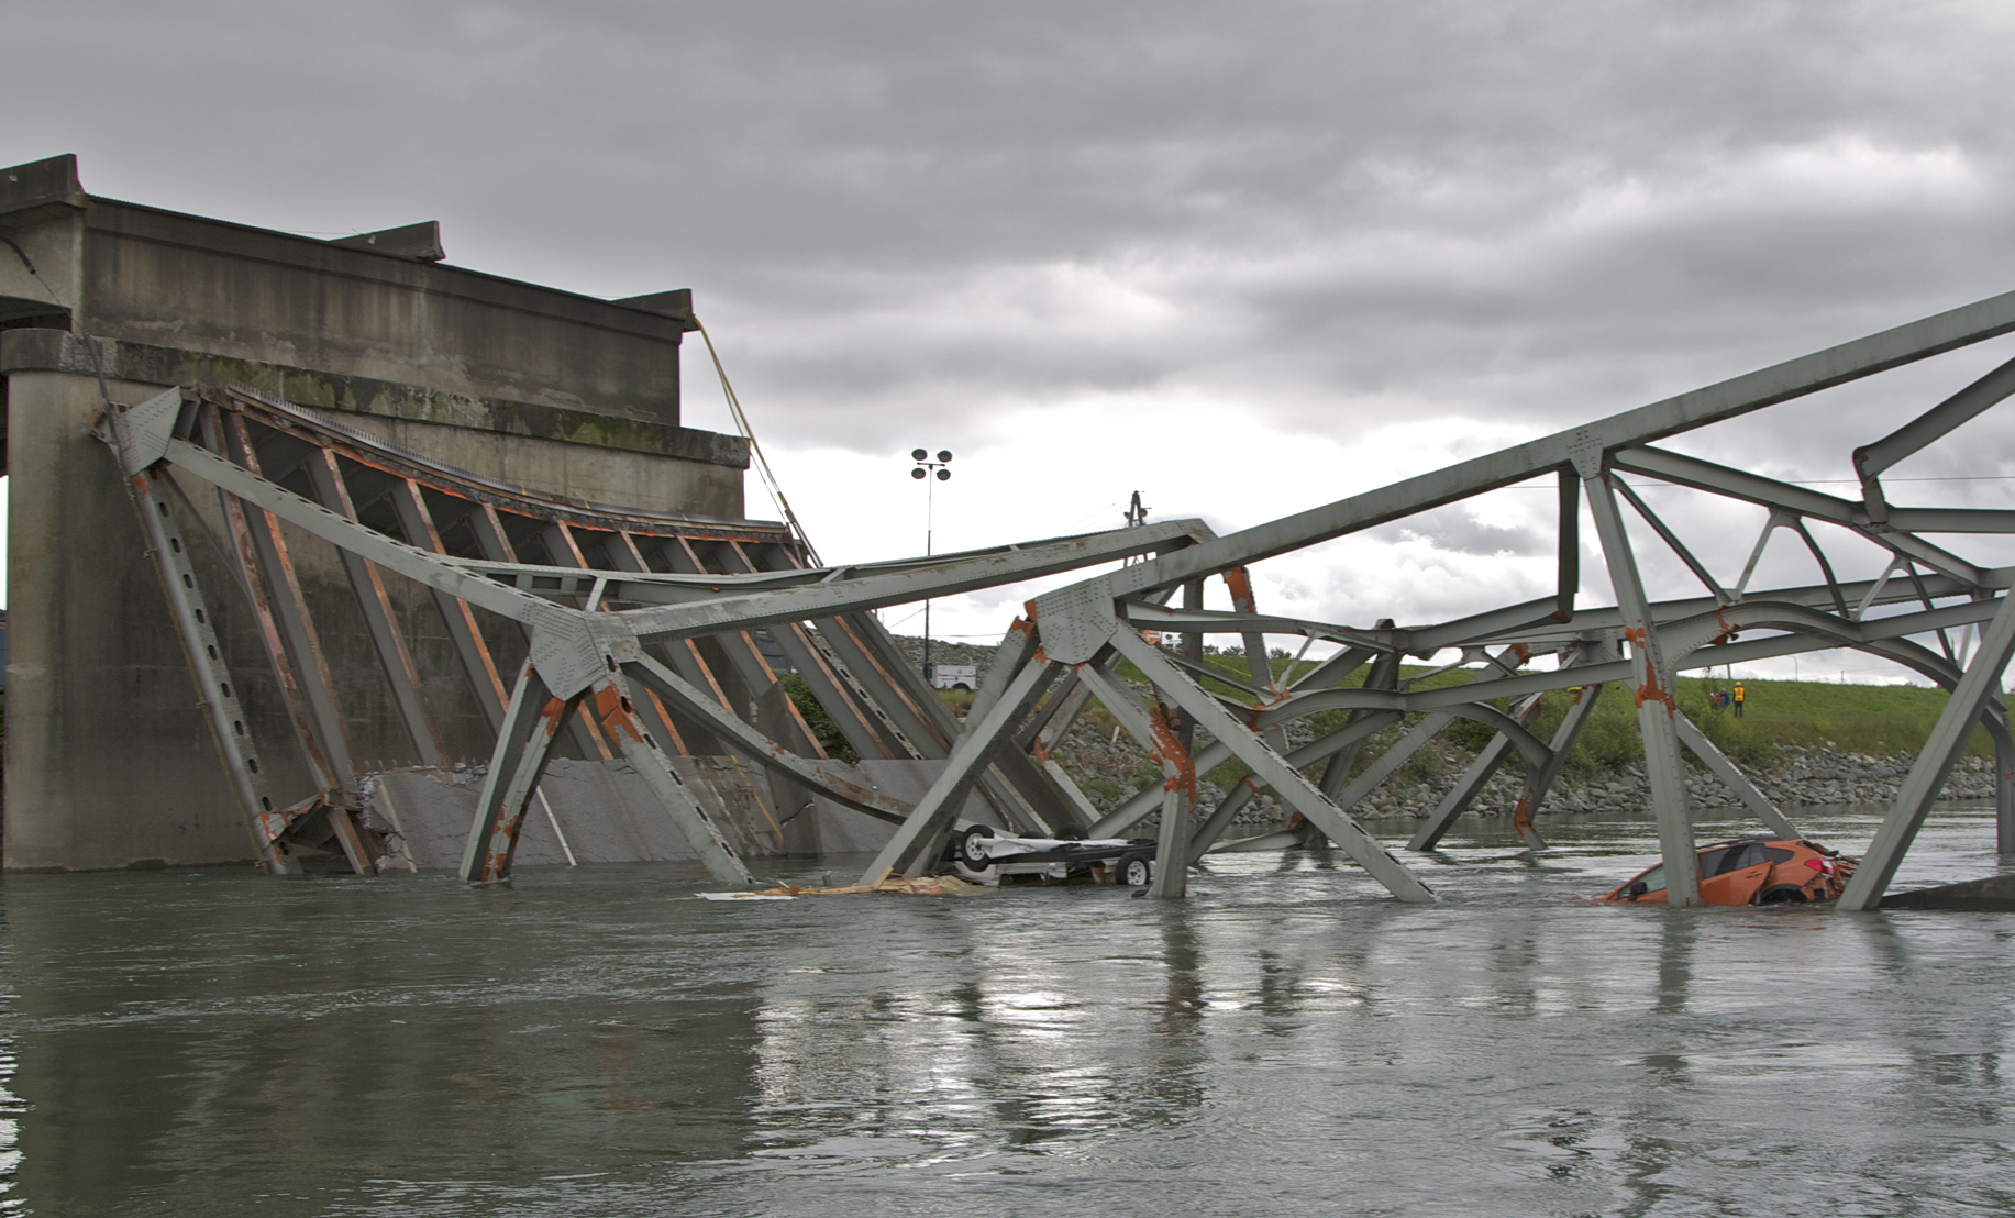
[[[1874,829],[1799,817],[1844,849]],[[1648,821],[1552,823],[1537,857],[1473,829],[1419,859],[1433,907],[1320,853],[1231,855],[1181,903],[8,875],[0,1206],[2015,1208],[2015,916],[1602,907]],[[1898,887],[1999,867],[1989,813],[1940,809]]]

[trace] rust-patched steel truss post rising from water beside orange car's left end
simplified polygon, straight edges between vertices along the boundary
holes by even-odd
[[[1658,819],[1658,847],[1664,851],[1666,901],[1699,905],[1701,859],[1695,855],[1687,774],[1678,756],[1678,724],[1674,722],[1678,708],[1672,698],[1672,672],[1658,645],[1658,627],[1652,621],[1650,603],[1644,599],[1644,581],[1638,577],[1630,534],[1616,508],[1616,492],[1610,488],[1604,454],[1596,446],[1584,446],[1576,450],[1574,462],[1576,472],[1582,474],[1582,486],[1588,490],[1588,510],[1596,518],[1596,536],[1602,538],[1602,557],[1610,569],[1616,609],[1636,667],[1632,698],[1636,698],[1638,708],[1638,732],[1644,736],[1644,774],[1650,778],[1650,807]]]

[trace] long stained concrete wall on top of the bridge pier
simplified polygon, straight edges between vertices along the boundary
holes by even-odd
[[[0,216],[101,339],[677,425],[667,317],[244,224],[93,198],[73,157],[0,171]],[[0,294],[46,307],[12,256]]]

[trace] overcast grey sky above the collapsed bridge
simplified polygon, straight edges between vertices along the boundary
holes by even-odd
[[[1130,490],[1229,530],[2015,288],[2007,4],[0,14],[0,163],[75,151],[95,194],[294,232],[437,218],[451,262],[590,294],[691,286],[828,559],[921,551],[915,446],[957,454],[939,549],[1114,526]],[[1687,448],[1844,478],[2007,353]],[[685,381],[687,423],[729,430],[697,343]],[[2015,474],[2015,428],[1896,474]],[[1733,579],[1761,514],[1656,494]],[[1539,595],[1550,506],[1267,563],[1261,607]],[[1016,599],[935,625],[997,635]]]

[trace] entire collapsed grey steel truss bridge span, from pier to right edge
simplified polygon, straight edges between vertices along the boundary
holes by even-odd
[[[1394,897],[1433,901],[1421,875],[1366,833],[1352,809],[1441,730],[1473,720],[1491,728],[1491,742],[1406,847],[1433,849],[1513,752],[1523,760],[1515,825],[1539,847],[1539,815],[1560,766],[1604,686],[1620,684],[1636,704],[1644,738],[1670,899],[1689,905],[1701,897],[1683,750],[1773,833],[1795,835],[1795,827],[1687,722],[1674,676],[1854,647],[1953,692],[1840,899],[1846,909],[1868,909],[1886,891],[1977,724],[1995,740],[2001,845],[2015,849],[2015,738],[2001,698],[2001,672],[2015,655],[2015,599],[2007,597],[2015,569],[1946,549],[1953,536],[2015,532],[2015,510],[1902,506],[1882,486],[1882,474],[1896,462],[2015,393],[2015,361],[1890,436],[1852,448],[1850,476],[1860,486],[1854,498],[1705,462],[1660,442],[2009,331],[2015,331],[2015,294],[1227,536],[1177,520],[856,567],[806,567],[802,546],[780,524],[532,496],[242,389],[202,397],[169,391],[135,407],[113,407],[97,434],[135,492],[193,676],[210,694],[206,706],[248,833],[274,871],[292,869],[298,849],[341,849],[365,871],[375,849],[355,817],[361,762],[334,706],[312,607],[288,559],[288,530],[298,530],[341,551],[389,702],[429,764],[445,760],[445,746],[429,716],[427,674],[417,672],[391,611],[387,577],[429,589],[447,623],[459,676],[476,690],[496,732],[461,861],[469,881],[510,875],[540,774],[560,736],[572,734],[588,756],[627,758],[701,861],[727,883],[750,883],[748,863],[685,788],[671,764],[681,752],[748,758],[893,823],[893,837],[862,875],[864,883],[931,865],[977,790],[1005,825],[1046,833],[1078,829],[1106,837],[1161,813],[1165,865],[1155,871],[1153,891],[1179,897],[1187,867],[1167,863],[1195,863],[1223,845],[1237,809],[1271,786],[1304,825],[1280,841],[1241,847],[1322,835]],[[1535,480],[1554,486],[1558,498],[1552,597],[1406,627],[1386,619],[1366,627],[1265,615],[1253,601],[1253,563]],[[1765,524],[1747,567],[1733,577],[1717,575],[1646,502],[1640,494],[1646,484],[1763,508]],[[236,589],[206,593],[187,569],[179,520],[193,514],[171,504],[199,490],[216,494],[224,508],[230,536],[212,542],[230,559]],[[1584,512],[1614,605],[1578,603]],[[1632,516],[1636,528],[1626,524]],[[1759,559],[1777,534],[1809,553],[1822,583],[1757,587]],[[1640,575],[1648,546],[1676,559],[1701,593],[1652,599]],[[1838,579],[1836,557],[1850,549],[1882,555],[1882,575]],[[901,661],[870,613],[1086,569],[1102,571],[1038,595],[1008,627],[963,722]],[[1229,611],[1203,607],[1205,583],[1213,579],[1223,581]],[[296,799],[284,803],[268,790],[236,718],[242,712],[230,698],[230,674],[206,633],[206,595],[252,605],[318,790],[286,793]],[[1959,637],[1969,625],[1977,631],[1971,649]],[[1159,647],[1143,631],[1183,641]],[[770,690],[776,674],[758,635],[788,655],[860,756],[943,760],[929,790],[903,805],[864,788],[832,764],[794,716],[784,732],[760,730],[754,708],[723,696],[723,674],[715,672],[725,663],[744,688]],[[1219,686],[1235,694],[1201,684],[1205,674],[1223,676],[1201,663],[1207,635],[1243,645],[1247,680]],[[1267,635],[1300,635],[1336,651],[1278,682],[1265,659]],[[1449,653],[1459,659],[1445,667],[1465,665],[1467,684],[1427,690],[1419,678],[1402,678],[1404,659]],[[1122,659],[1147,678],[1145,698],[1116,680]],[[1354,674],[1362,680],[1346,688]],[[1578,694],[1558,730],[1541,740],[1531,724],[1541,694],[1552,690]],[[1106,815],[1050,758],[1090,700],[1104,704],[1161,766],[1159,780]],[[1324,722],[1340,720],[1338,726],[1290,750],[1286,724],[1336,710],[1348,714]],[[1352,776],[1366,742],[1400,722],[1406,730],[1398,742]],[[1199,726],[1209,734],[1201,746]],[[1215,807],[1199,807],[1197,772],[1231,758],[1251,776]]]

